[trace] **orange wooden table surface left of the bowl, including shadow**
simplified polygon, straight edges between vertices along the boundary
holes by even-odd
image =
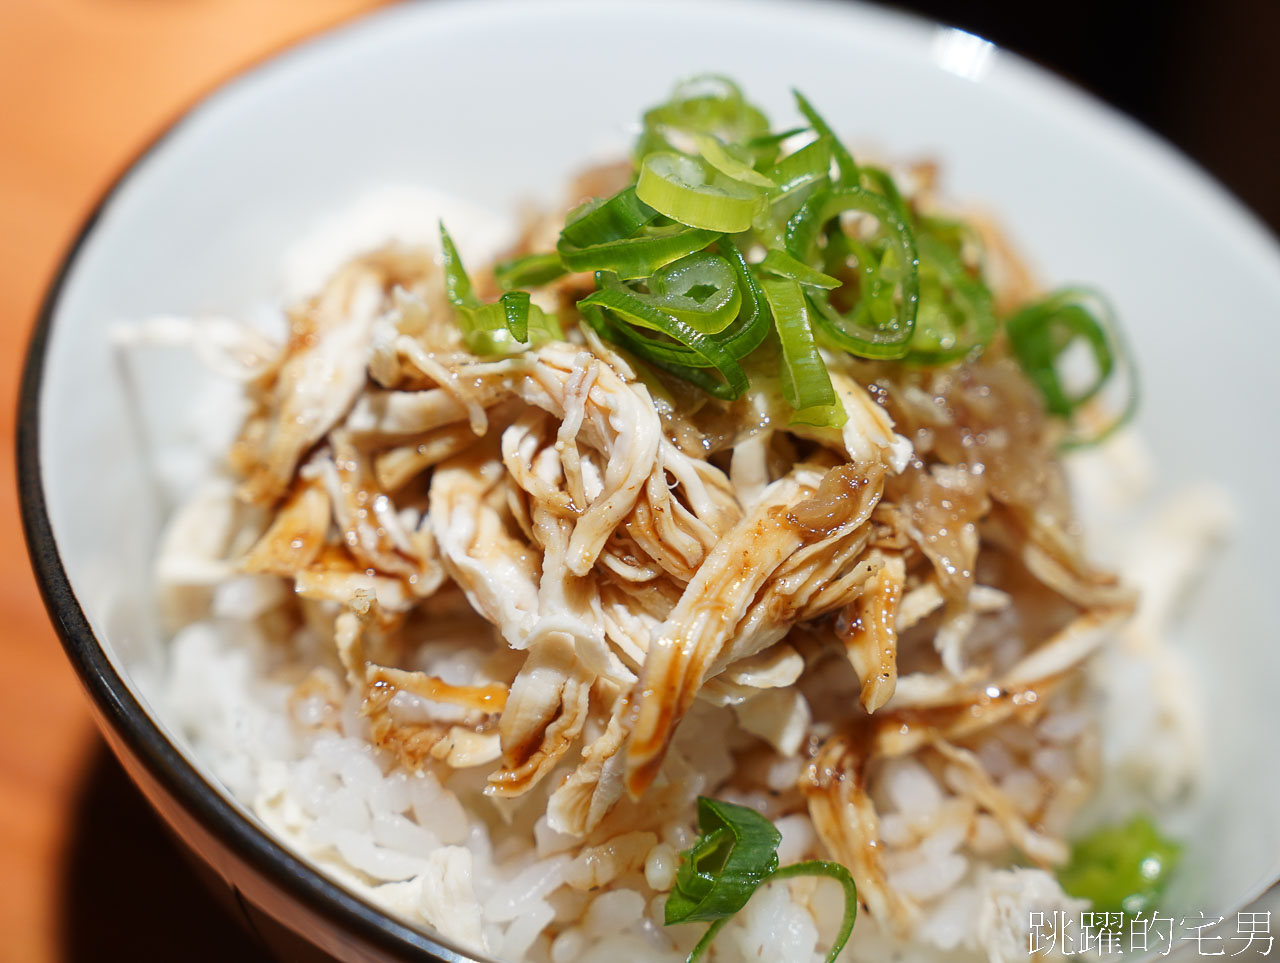
[[[0,0],[0,960],[260,958],[95,734],[27,565],[14,402],[45,286],[133,155],[219,81],[376,4]]]

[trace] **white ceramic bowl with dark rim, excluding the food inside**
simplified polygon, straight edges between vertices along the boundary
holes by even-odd
[[[1084,279],[1114,298],[1142,366],[1139,429],[1160,490],[1216,479],[1245,522],[1176,629],[1197,658],[1211,749],[1183,899],[1216,917],[1258,896],[1280,870],[1268,442],[1280,252],[1124,117],[973,36],[876,8],[406,5],[252,70],[152,146],[68,256],[32,343],[20,421],[32,556],[113,745],[260,928],[283,922],[282,934],[343,959],[462,958],[287,855],[150,715],[137,670],[163,652],[150,565],[169,506],[146,452],[180,434],[193,375],[173,365],[124,391],[108,325],[278,298],[280,252],[388,184],[508,218],[522,200],[556,196],[584,161],[623,151],[625,119],[705,70],[739,78],[777,120],[792,115],[795,86],[855,145],[938,159],[947,193],[995,211],[1044,280]]]

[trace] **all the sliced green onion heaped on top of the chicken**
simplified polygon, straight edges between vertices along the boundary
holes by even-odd
[[[836,352],[945,365],[997,338],[1046,410],[1069,421],[1125,369],[1121,414],[1071,443],[1098,441],[1132,415],[1135,379],[1100,298],[1068,289],[997,319],[975,232],[915,210],[887,172],[855,161],[822,114],[795,100],[805,125],[774,132],[723,77],[678,85],[643,117],[631,183],[572,211],[554,252],[498,265],[506,293],[492,305],[474,298],[444,236],[467,346],[503,353],[557,337],[556,319],[521,289],[591,273],[595,291],[576,310],[602,338],[726,401],[748,391],[744,361],[764,351],[751,376],[768,378],[772,365],[795,423],[844,424],[827,373]],[[1094,375],[1073,391],[1060,369],[1078,343]]]

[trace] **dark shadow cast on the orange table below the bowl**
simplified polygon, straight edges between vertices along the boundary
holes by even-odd
[[[142,794],[97,741],[61,875],[65,963],[269,963],[214,899]]]

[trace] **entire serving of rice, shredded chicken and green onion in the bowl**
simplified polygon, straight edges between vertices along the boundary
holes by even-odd
[[[122,328],[243,389],[159,549],[155,699],[475,954],[1014,960],[1176,867],[1194,699],[1082,524],[1120,332],[796,102],[682,83],[493,263],[352,252],[283,339]]]

